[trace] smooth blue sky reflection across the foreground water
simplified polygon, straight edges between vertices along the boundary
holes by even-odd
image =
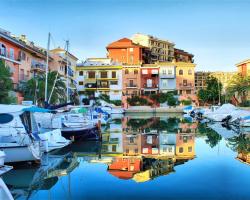
[[[199,135],[197,130],[196,135]],[[78,157],[80,165],[70,175],[59,177],[50,190],[34,192],[31,198],[250,199],[250,166],[235,159],[237,152],[228,147],[225,139],[213,148],[206,140],[205,135],[196,136],[193,160],[174,166],[168,175],[142,183],[111,175],[107,164],[88,162],[98,160],[98,147],[92,148],[96,151],[91,152],[92,158],[86,157],[83,155],[89,148],[83,143],[72,148],[82,153],[82,157]],[[105,158],[104,154],[102,157]]]

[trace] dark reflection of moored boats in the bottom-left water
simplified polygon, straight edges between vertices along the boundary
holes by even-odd
[[[16,166],[3,176],[13,197],[29,199],[38,190],[50,190],[61,176],[68,175],[79,162],[71,153],[65,155],[44,154],[41,165]]]

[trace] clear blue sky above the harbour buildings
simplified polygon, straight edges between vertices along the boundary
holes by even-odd
[[[80,60],[104,57],[107,44],[133,33],[175,42],[197,70],[236,70],[250,57],[250,0],[0,0],[0,27],[46,47],[70,40]]]

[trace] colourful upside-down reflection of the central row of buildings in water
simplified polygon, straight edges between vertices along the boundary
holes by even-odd
[[[102,155],[114,156],[108,172],[117,178],[145,182],[174,172],[176,165],[195,158],[196,123],[124,117],[120,125],[119,129],[111,122],[102,147]]]

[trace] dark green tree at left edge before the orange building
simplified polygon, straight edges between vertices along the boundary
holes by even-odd
[[[0,103],[11,103],[9,92],[13,90],[13,82],[9,67],[5,67],[2,60],[0,60]]]

